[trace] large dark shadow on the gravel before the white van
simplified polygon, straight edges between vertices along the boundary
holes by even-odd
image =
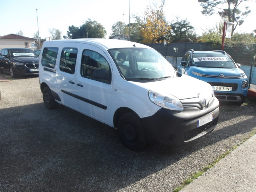
[[[250,113],[250,106],[240,108]],[[239,115],[232,106],[221,110],[233,118]],[[150,145],[134,152],[122,146],[113,128],[64,106],[47,110],[38,103],[0,109],[0,191],[121,190],[170,165],[175,168],[208,145],[250,132],[255,128],[255,113],[251,115],[253,119],[217,126],[191,144]],[[222,122],[225,115],[220,117]],[[173,172],[187,166],[184,161]]]

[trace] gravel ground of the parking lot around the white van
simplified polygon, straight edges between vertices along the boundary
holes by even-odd
[[[256,130],[256,102],[221,104],[210,134],[178,148],[130,151],[116,130],[59,105],[38,76],[0,82],[0,191],[173,191]]]

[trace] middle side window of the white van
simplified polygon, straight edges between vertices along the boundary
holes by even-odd
[[[74,74],[76,68],[77,48],[63,48],[60,55],[60,70]]]

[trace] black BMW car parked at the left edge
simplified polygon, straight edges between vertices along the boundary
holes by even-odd
[[[39,57],[29,48],[0,50],[0,73],[9,72],[12,78],[38,73]]]

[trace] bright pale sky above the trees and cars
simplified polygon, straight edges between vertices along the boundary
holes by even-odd
[[[129,8],[132,23],[132,15],[143,16],[152,0],[0,0],[0,4],[0,36],[21,30],[23,36],[33,38],[38,28],[41,38],[50,36],[49,29],[53,28],[60,30],[61,36],[67,36],[69,26],[79,27],[90,18],[104,26],[108,38],[114,23],[129,24]],[[244,5],[250,7],[251,13],[235,32],[251,33],[256,29],[256,1],[249,0],[239,8]],[[218,14],[204,16],[201,11],[198,0],[166,0],[164,4],[168,22],[176,21],[177,17],[187,19],[198,35],[223,22]]]

